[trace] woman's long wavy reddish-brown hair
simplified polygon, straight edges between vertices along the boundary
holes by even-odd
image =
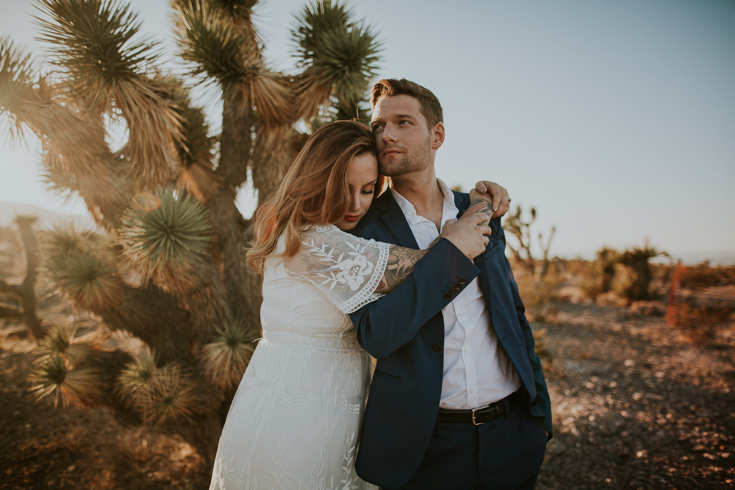
[[[355,156],[374,154],[378,148],[367,126],[337,120],[320,127],[306,141],[273,196],[255,213],[255,239],[245,262],[259,273],[284,235],[284,259],[301,248],[304,226],[336,224],[350,206],[347,168]],[[384,187],[378,176],[375,197]]]

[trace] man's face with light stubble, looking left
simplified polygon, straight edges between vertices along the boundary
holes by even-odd
[[[406,95],[381,98],[373,109],[370,128],[378,143],[379,169],[384,176],[418,172],[431,163],[435,138],[416,98]]]

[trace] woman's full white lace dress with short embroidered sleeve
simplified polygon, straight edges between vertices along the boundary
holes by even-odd
[[[287,262],[265,261],[263,339],[232,401],[210,490],[377,489],[354,470],[370,356],[346,313],[379,298],[390,245],[336,226],[302,239]]]

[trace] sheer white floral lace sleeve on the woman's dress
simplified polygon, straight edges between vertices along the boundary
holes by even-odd
[[[284,265],[306,278],[343,313],[380,298],[390,245],[354,237],[336,226],[312,226],[301,234],[301,250]]]

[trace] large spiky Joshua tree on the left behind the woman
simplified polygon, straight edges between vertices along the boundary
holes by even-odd
[[[188,75],[220,90],[218,135],[181,79],[159,70],[156,43],[138,36],[128,5],[35,0],[48,65],[0,39],[6,127],[16,139],[39,138],[49,187],[78,193],[104,230],[46,234],[46,278],[149,347],[131,360],[54,330],[33,377],[37,390],[164,424],[209,461],[260,329],[259,277],[243,260],[251,220],[234,206],[237,191],[251,176],[259,201],[268,198],[306,138],[299,121],[313,128],[364,113],[379,52],[345,4],[319,0],[295,19],[298,73],[273,71],[255,4],[171,1]],[[105,139],[110,121],[126,125],[120,149]],[[70,356],[70,346],[89,355]],[[90,370],[106,373],[104,383],[90,382]]]

